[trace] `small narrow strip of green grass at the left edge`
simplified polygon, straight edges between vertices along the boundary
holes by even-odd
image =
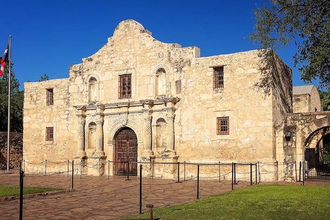
[[[24,194],[38,194],[45,191],[59,190],[57,188],[44,187],[24,187]],[[17,196],[19,195],[19,186],[0,186],[0,197],[2,196]]]

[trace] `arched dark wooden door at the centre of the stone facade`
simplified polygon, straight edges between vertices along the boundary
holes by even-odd
[[[120,129],[115,138],[116,145],[116,175],[127,175],[127,161],[129,161],[129,175],[137,175],[137,138],[129,127]]]

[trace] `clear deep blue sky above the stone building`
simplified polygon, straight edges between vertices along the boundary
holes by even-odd
[[[117,24],[135,19],[162,42],[201,48],[201,56],[258,48],[248,36],[253,9],[265,1],[17,1],[1,3],[0,53],[13,36],[15,76],[38,81],[68,77],[70,65],[97,52]],[[4,14],[3,14],[4,13]],[[294,86],[304,84],[293,67],[296,47],[278,50],[293,70]]]

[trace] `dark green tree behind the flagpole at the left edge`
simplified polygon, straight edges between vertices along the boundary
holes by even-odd
[[[8,129],[8,65],[0,77],[0,131]],[[12,63],[12,78],[10,86],[10,127],[12,132],[23,132],[23,102],[24,92],[19,90],[19,82],[15,78]]]

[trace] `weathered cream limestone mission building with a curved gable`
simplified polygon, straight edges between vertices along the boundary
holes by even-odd
[[[92,175],[86,164],[99,163],[103,173],[108,160],[110,175],[125,174],[127,160],[260,162],[262,180],[283,179],[292,72],[277,56],[274,63],[265,93],[256,50],[201,57],[198,47],[159,42],[138,22],[120,22],[100,50],[70,66],[68,78],[24,84],[26,169],[42,171],[33,164],[45,159],[49,171],[65,171],[61,162],[75,159]],[[152,172],[172,178],[175,167]],[[136,164],[129,172],[139,174]]]

